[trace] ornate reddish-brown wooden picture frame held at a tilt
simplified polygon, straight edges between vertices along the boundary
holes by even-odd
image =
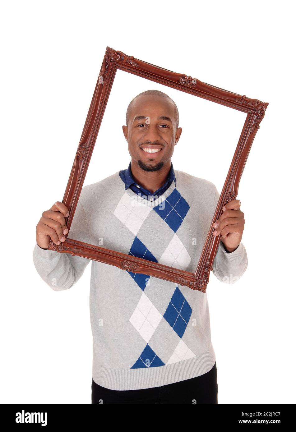
[[[219,219],[223,206],[229,201],[236,199],[239,181],[248,158],[248,153],[255,134],[260,127],[259,123],[264,117],[264,111],[267,108],[268,102],[260,102],[258,99],[250,99],[245,95],[242,96],[237,93],[228,92],[219,87],[203,83],[196,78],[191,78],[191,76],[183,73],[175,73],[171,70],[163,69],[107,47],[63,198],[63,203],[69,209],[69,216],[66,218],[68,230],[70,230],[117,69],[247,113],[247,118],[242,128],[242,133],[239,137],[239,142],[220,194],[220,200],[217,203],[197,268],[194,273],[190,273],[110,249],[89,245],[88,243],[71,238],[66,238],[60,245],[54,244],[51,240],[48,249],[78,255],[114,265],[122,270],[147,274],[181,284],[182,286],[188,286],[191,289],[206,292],[210,270],[213,270],[213,260],[221,236],[213,235],[213,223]]]

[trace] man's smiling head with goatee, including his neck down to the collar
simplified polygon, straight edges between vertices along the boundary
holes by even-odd
[[[129,173],[153,194],[159,193],[169,172],[173,173],[171,158],[182,132],[178,108],[161,94],[150,90],[136,96],[127,108],[127,126],[122,127],[131,156]]]

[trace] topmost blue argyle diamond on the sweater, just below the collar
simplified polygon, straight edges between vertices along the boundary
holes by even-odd
[[[181,196],[177,189],[174,189],[169,197],[153,210],[169,225],[174,232],[177,231],[188,210],[190,209],[187,201]]]

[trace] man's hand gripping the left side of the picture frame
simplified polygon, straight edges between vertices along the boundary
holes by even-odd
[[[65,241],[64,234],[68,229],[65,217],[69,216],[69,211],[65,204],[57,201],[50,210],[45,210],[36,225],[36,242],[40,248],[47,249],[50,240],[56,245]]]

